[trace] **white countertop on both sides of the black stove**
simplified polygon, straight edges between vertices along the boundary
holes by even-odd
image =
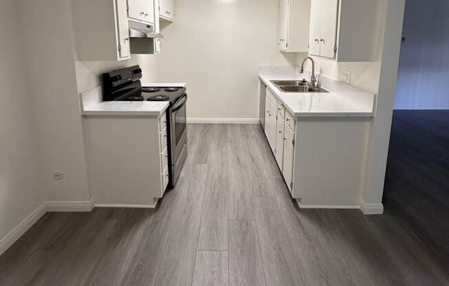
[[[185,83],[142,83],[143,87],[185,87]],[[101,87],[81,93],[83,115],[159,116],[169,107],[168,101],[103,101]]]

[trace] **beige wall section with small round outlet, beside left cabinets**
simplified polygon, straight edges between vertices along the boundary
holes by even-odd
[[[46,201],[87,201],[87,166],[74,67],[70,0],[19,2],[28,94],[39,131]],[[51,80],[51,81],[49,81]],[[65,176],[53,179],[54,170]]]

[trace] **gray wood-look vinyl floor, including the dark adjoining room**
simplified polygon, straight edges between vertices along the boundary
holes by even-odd
[[[0,285],[449,285],[448,118],[395,113],[379,216],[300,210],[258,125],[189,125],[155,210],[45,214]]]

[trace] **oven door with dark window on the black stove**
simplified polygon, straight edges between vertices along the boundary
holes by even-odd
[[[176,164],[176,159],[187,141],[186,103],[187,94],[184,94],[171,107],[171,165]]]

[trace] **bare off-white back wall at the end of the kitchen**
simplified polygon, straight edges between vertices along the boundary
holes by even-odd
[[[162,24],[158,81],[187,82],[188,118],[258,118],[258,65],[294,65],[278,52],[278,1],[177,0]]]

